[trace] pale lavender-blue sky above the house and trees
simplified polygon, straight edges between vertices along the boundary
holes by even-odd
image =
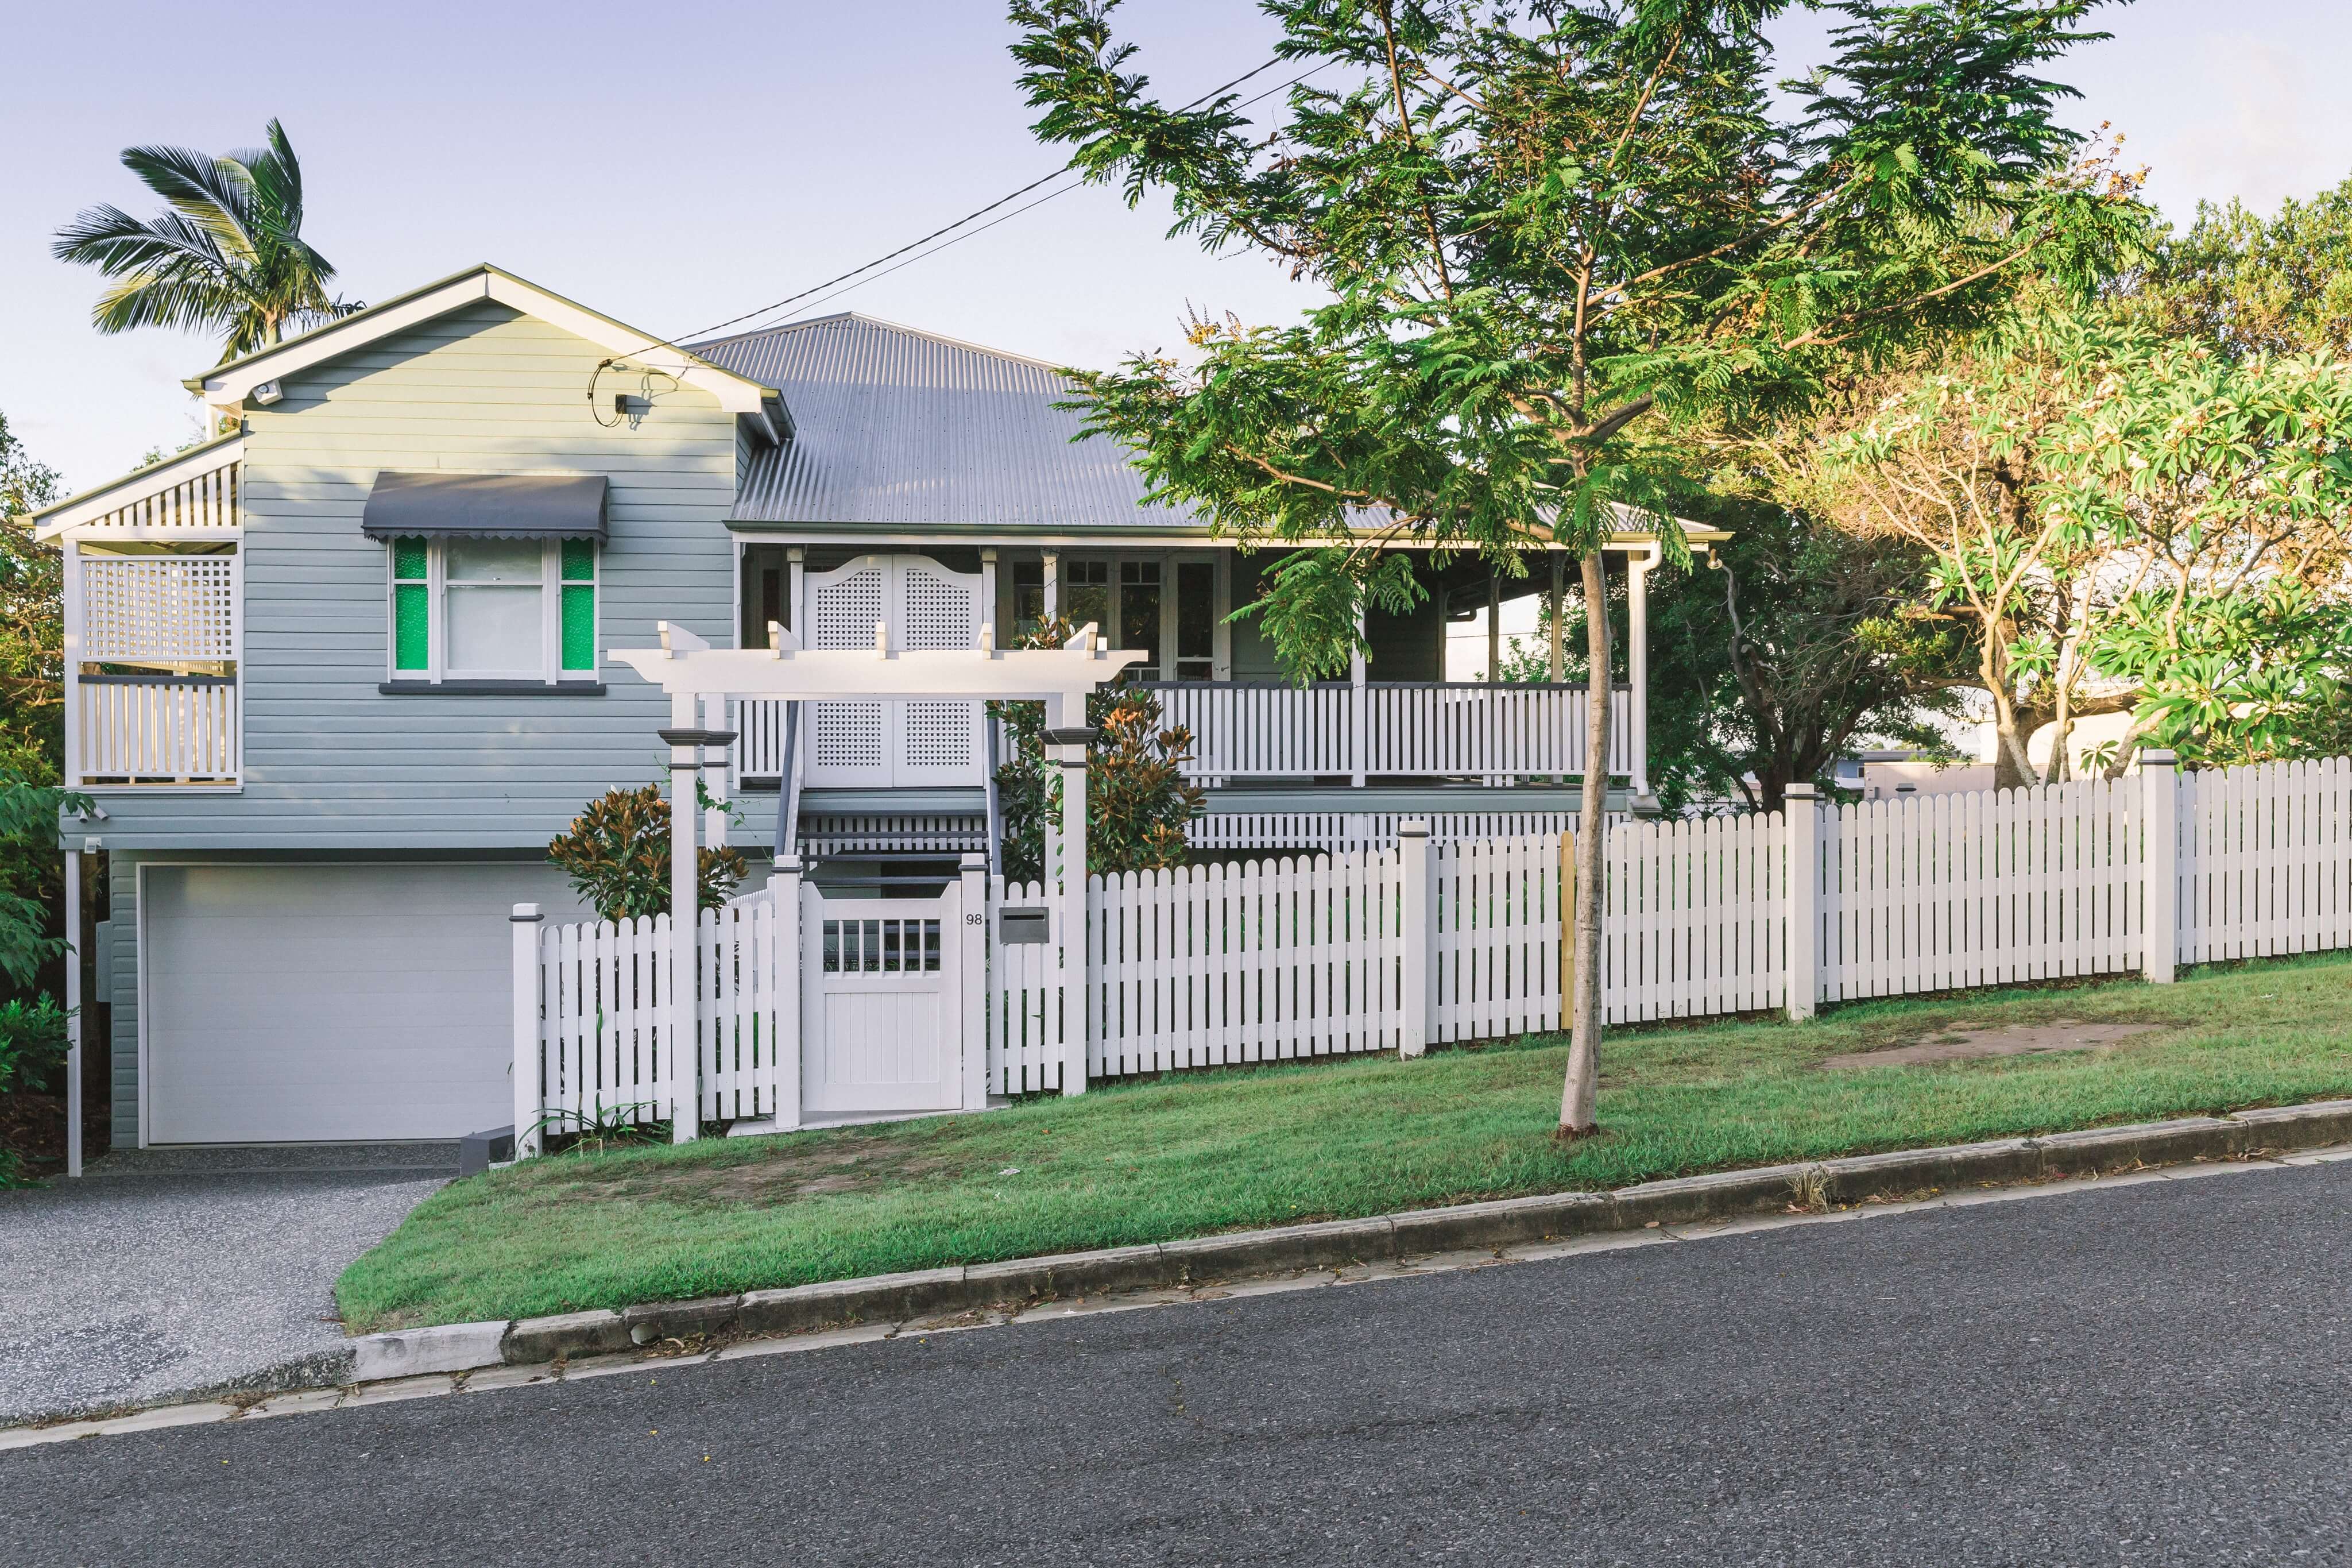
[[[278,115],[308,176],[306,233],[346,296],[496,261],[659,334],[823,282],[1058,162],[1028,134],[995,0],[9,9],[0,411],[73,487],[186,440],[179,378],[214,357],[162,331],[96,336],[96,275],[49,259],[89,202],[148,216],[115,162],[132,143],[219,153]],[[1129,0],[1122,16],[1178,99],[1258,66],[1272,38],[1249,0]],[[2070,120],[2126,132],[2176,219],[2199,197],[2310,195],[2352,174],[2343,16],[2343,0],[2110,7],[2114,40],[2058,73],[2084,89]],[[1818,35],[1802,14],[1778,28],[1790,68]],[[1211,261],[1162,230],[1155,209],[1080,190],[816,308],[1075,364],[1174,343],[1188,303],[1296,308],[1263,261]]]

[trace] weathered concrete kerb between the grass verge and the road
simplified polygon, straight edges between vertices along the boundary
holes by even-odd
[[[358,1382],[369,1382],[499,1363],[532,1366],[609,1356],[696,1335],[797,1335],[856,1324],[903,1324],[936,1314],[1014,1309],[1040,1300],[1112,1291],[1164,1291],[1254,1274],[1343,1269],[1390,1258],[1494,1251],[1830,1204],[1893,1201],[1955,1187],[2100,1175],[2194,1159],[2241,1159],[2336,1143],[2352,1143],[2352,1100],[2249,1110],[2232,1117],[2180,1117],[2046,1138],[1856,1154],[1757,1171],[1717,1171],[1642,1182],[1618,1192],[1491,1199],[1369,1220],[1324,1220],[1096,1253],[837,1279],[691,1302],[647,1302],[626,1312],[564,1312],[517,1324],[407,1328],[353,1340],[353,1375]]]

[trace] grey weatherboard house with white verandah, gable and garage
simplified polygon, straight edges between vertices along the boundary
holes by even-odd
[[[1094,621],[1195,731],[1202,853],[1576,809],[1581,686],[1444,682],[1446,621],[1536,576],[1425,569],[1352,679],[1291,686],[1228,621],[1263,557],[1073,444],[1037,360],[858,315],[687,353],[482,266],[188,386],[223,435],[35,517],[66,550],[66,776],[101,809],[64,844],[111,867],[89,1023],[118,1145],[506,1121],[506,912],[581,914],[548,839],[661,776],[668,705],[604,656],[656,621],[844,649]],[[1637,792],[1656,543],[1618,550],[1609,776]],[[993,853],[974,705],[776,708],[722,717],[755,882],[779,813],[818,884]]]

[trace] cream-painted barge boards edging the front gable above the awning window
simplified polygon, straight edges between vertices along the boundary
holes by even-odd
[[[183,386],[212,407],[235,407],[263,381],[292,376],[294,371],[348,355],[395,331],[407,331],[419,322],[430,322],[485,299],[534,315],[550,327],[562,327],[597,348],[609,348],[616,355],[628,355],[640,364],[668,371],[687,386],[717,397],[720,407],[729,414],[748,414],[767,425],[776,423],[779,411],[771,407],[776,390],[771,386],[734,369],[722,369],[649,331],[637,331],[562,294],[550,294],[487,261],[440,282],[428,282],[421,289],[409,289],[367,310],[355,310],[339,322],[313,327],[296,339],[273,343],[242,360],[216,364],[202,376],[188,376]]]

